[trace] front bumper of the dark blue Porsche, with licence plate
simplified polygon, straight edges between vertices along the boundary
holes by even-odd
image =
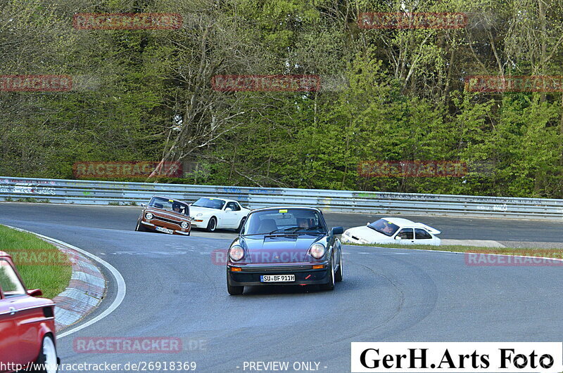
[[[313,269],[312,266],[322,268]],[[240,270],[233,270],[240,268]],[[264,266],[247,264],[237,266],[227,264],[227,277],[232,286],[260,286],[260,285],[314,285],[329,282],[329,263],[291,263],[286,265]],[[261,275],[295,275],[291,282],[261,282]]]

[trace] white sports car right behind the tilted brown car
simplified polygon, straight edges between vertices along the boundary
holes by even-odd
[[[192,228],[239,230],[251,212],[233,199],[201,197],[190,205],[189,214]]]

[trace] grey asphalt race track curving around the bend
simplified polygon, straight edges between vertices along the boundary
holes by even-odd
[[[94,325],[58,340],[64,363],[196,362],[198,372],[243,372],[245,361],[320,362],[350,371],[351,341],[558,341],[561,267],[468,266],[463,254],[344,247],[334,292],[260,287],[229,296],[211,252],[230,240],[133,231],[139,208],[0,204],[0,223],[85,249],[117,268],[123,303]],[[329,225],[369,216],[326,214]],[[561,242],[563,223],[422,218],[442,238]],[[115,297],[108,275],[108,297]],[[94,315],[90,315],[92,318]],[[167,336],[181,353],[76,353],[77,337]],[[313,367],[315,365],[313,364]],[[237,368],[238,367],[238,368]],[[246,370],[248,372],[248,369]]]

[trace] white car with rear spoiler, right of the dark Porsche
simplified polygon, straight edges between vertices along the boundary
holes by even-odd
[[[381,218],[365,227],[347,229],[342,242],[353,244],[430,244],[440,245],[440,231],[426,224],[403,218]]]

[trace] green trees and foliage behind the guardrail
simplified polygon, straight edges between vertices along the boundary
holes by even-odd
[[[562,4],[542,4],[7,1],[2,14],[17,22],[0,23],[11,45],[1,73],[72,74],[75,89],[0,92],[0,174],[72,178],[78,161],[165,159],[198,168],[155,182],[563,198],[562,93],[470,93],[463,82],[561,75]],[[184,25],[74,30],[80,11],[179,12]],[[461,11],[469,25],[362,30],[364,11]],[[322,87],[218,92],[216,74],[316,74]],[[365,160],[469,172],[365,178]]]

